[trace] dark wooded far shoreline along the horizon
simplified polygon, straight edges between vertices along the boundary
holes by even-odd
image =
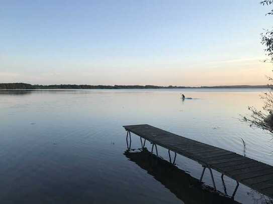
[[[191,88],[270,88],[270,85],[233,85],[233,86],[153,86],[153,85],[32,85],[26,83],[0,83],[0,89],[191,89]]]

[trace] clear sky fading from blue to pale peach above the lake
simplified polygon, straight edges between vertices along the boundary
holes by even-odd
[[[264,85],[259,0],[1,0],[0,83]]]

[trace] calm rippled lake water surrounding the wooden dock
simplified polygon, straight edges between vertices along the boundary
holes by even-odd
[[[265,203],[240,184],[233,201],[209,171],[167,150],[157,159],[122,125],[150,124],[273,165],[273,140],[238,118],[263,89],[0,91],[0,203]],[[193,100],[182,101],[180,93]],[[148,143],[148,150],[151,145]],[[224,192],[221,174],[213,171]],[[236,182],[224,177],[231,196]]]

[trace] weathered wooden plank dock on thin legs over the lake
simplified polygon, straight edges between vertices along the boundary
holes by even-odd
[[[132,132],[144,139],[144,145],[145,140],[148,140],[155,147],[156,145],[162,146],[199,162],[204,167],[201,180],[205,169],[208,168],[214,183],[211,171],[211,169],[214,169],[222,173],[222,175],[227,175],[237,182],[273,198],[273,166],[151,125],[126,125],[123,127],[127,131],[127,138],[128,133],[131,138],[130,133]],[[143,147],[144,145],[142,144]]]

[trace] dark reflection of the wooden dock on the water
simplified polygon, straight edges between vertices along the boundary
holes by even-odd
[[[212,187],[204,185],[199,179],[192,177],[168,161],[156,157],[146,148],[140,152],[126,150],[124,155],[147,170],[147,173],[161,182],[185,204],[239,203],[219,191],[214,191]]]

